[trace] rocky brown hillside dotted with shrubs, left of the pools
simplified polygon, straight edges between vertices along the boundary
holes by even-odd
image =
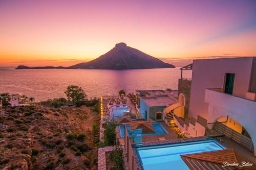
[[[0,169],[97,169],[98,120],[85,106],[0,107]]]

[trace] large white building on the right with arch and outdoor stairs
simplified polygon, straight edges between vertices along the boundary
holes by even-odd
[[[194,60],[192,67],[192,79],[179,80],[179,103],[165,114],[187,107],[174,114],[180,131],[224,134],[256,155],[256,57]],[[189,82],[190,93],[183,94]]]

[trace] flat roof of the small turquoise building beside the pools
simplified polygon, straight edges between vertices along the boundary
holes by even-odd
[[[141,97],[148,107],[153,106],[169,106],[177,103],[176,100],[170,98],[168,95],[156,95],[150,97]]]

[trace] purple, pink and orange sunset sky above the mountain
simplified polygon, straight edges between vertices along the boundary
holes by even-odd
[[[256,1],[0,0],[0,67],[70,66],[118,42],[178,66],[256,56]]]

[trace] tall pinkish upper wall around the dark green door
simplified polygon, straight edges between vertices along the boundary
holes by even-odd
[[[225,73],[235,75],[233,95],[246,98],[249,90],[253,57],[194,60],[190,92],[189,117],[197,115],[212,122],[208,104],[204,102],[205,89],[223,88]]]

